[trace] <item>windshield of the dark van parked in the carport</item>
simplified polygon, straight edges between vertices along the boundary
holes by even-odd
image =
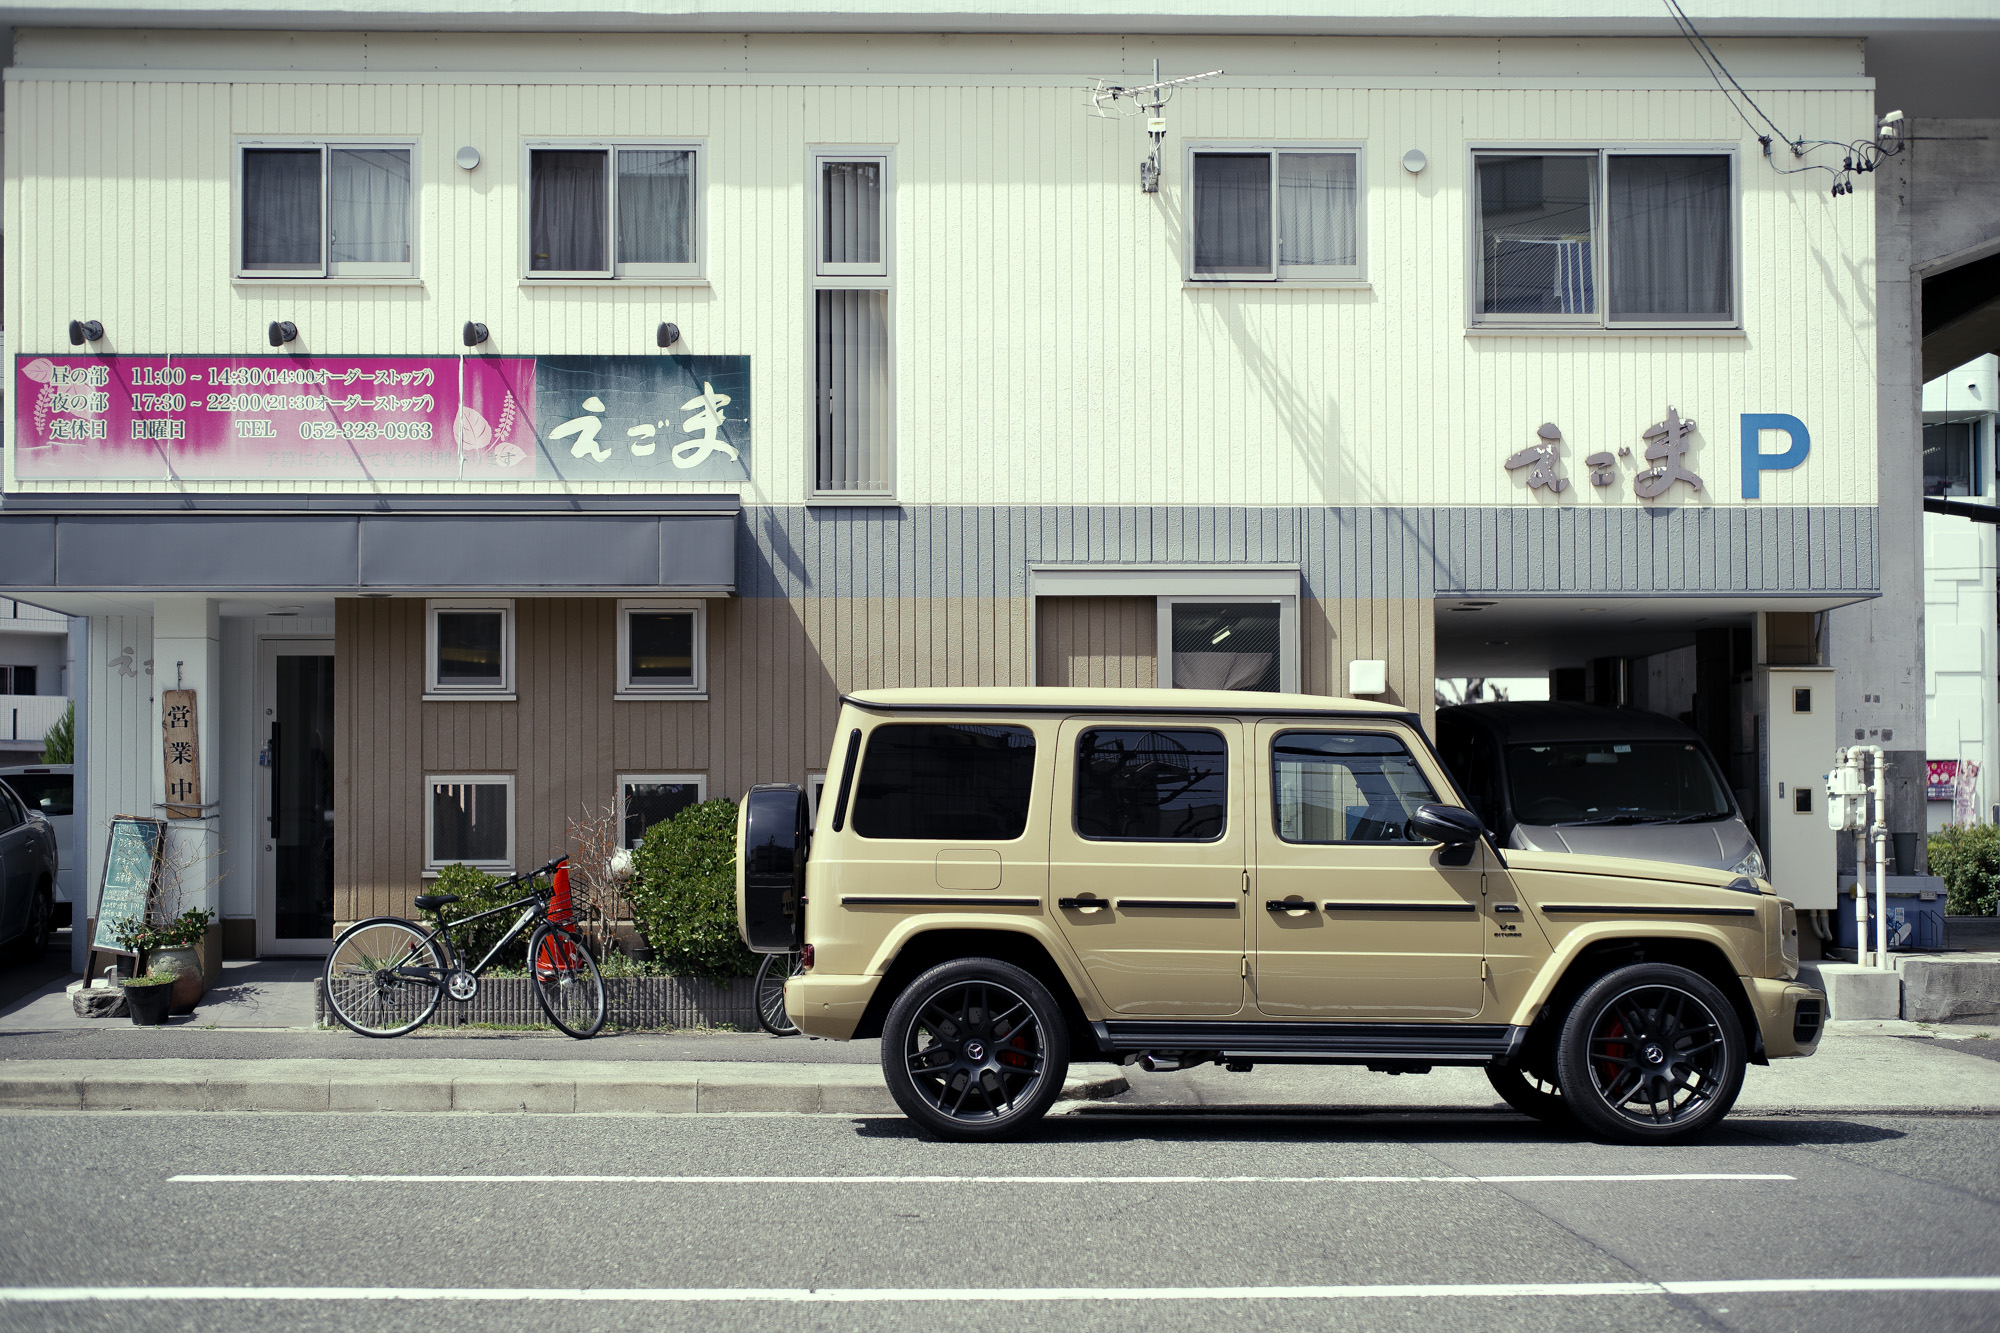
[[[1730,815],[1714,765],[1686,741],[1510,745],[1506,775],[1524,825],[1692,825]]]

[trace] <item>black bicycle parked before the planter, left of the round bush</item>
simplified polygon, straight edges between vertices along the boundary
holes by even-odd
[[[568,903],[550,913],[556,893],[546,875],[562,859],[500,881],[498,889],[528,885],[528,895],[492,911],[446,921],[444,909],[458,901],[456,893],[430,893],[416,899],[416,911],[436,913],[438,927],[426,931],[402,917],[370,917],[356,921],[334,941],[326,955],[326,1007],[362,1037],[402,1037],[422,1027],[438,1011],[438,1001],[450,997],[468,1003],[480,993],[480,973],[522,931],[528,937],[528,979],[534,999],[548,1021],[578,1041],[596,1037],[604,1027],[604,979],[578,939],[574,923],[566,921]],[[520,921],[486,951],[474,967],[464,967],[452,945],[452,931],[464,933],[474,921],[520,911]]]

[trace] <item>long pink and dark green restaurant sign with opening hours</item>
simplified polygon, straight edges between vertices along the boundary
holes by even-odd
[[[748,356],[16,356],[20,480],[748,480]]]

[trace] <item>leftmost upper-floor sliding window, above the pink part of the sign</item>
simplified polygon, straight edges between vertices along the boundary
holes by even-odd
[[[416,146],[240,140],[236,272],[246,278],[416,274]]]

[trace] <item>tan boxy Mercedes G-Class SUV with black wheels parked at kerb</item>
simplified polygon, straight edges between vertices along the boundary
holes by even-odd
[[[818,819],[738,815],[738,921],[812,1037],[882,1039],[948,1139],[1032,1125],[1070,1059],[1478,1065],[1626,1143],[1810,1055],[1792,905],[1720,871],[1502,851],[1416,715],[1314,695],[866,691]]]

